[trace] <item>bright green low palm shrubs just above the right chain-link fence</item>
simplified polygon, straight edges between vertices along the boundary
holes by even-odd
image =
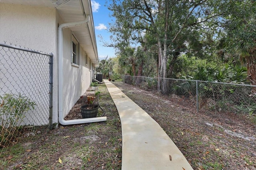
[[[240,64],[207,62],[182,55],[176,63],[174,73],[180,79],[215,82],[246,83],[247,68]]]

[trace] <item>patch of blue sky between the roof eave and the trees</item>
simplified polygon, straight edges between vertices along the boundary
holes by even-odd
[[[109,3],[109,2],[108,2]],[[111,18],[109,17],[110,11],[106,6],[105,0],[91,0],[92,4],[92,15],[94,20],[95,37],[98,48],[98,57],[100,60],[105,59],[108,55],[108,59],[115,57],[115,49],[111,47],[104,47],[103,43],[100,42],[99,35],[102,36],[104,41],[110,42],[110,33],[108,32]]]

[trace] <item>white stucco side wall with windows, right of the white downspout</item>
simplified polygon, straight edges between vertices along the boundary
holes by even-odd
[[[72,32],[66,28],[63,30],[63,115],[66,116],[90,86],[91,71],[89,63],[85,64],[85,56],[82,47],[79,48],[79,65],[71,63]],[[79,38],[78,38],[79,41]]]

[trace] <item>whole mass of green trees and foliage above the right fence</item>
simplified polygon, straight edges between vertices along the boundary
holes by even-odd
[[[256,82],[256,70],[247,68],[247,75],[239,61],[256,59],[253,1],[112,0],[108,8],[116,19],[110,24],[120,55],[116,73],[137,76],[142,65],[141,75],[150,77]]]

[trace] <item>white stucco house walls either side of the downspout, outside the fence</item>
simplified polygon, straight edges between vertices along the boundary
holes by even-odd
[[[58,123],[58,26],[62,23],[64,21],[54,8],[0,3],[0,43],[6,41],[12,45],[54,55],[53,123]],[[62,92],[64,116],[89,88],[92,70],[95,70],[90,63],[90,56],[86,64],[83,52],[84,49],[80,46],[79,65],[71,64],[72,32],[69,28],[65,28],[63,30]]]

